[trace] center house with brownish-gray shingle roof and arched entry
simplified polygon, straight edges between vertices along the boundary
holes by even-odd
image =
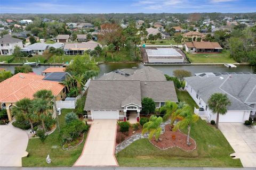
[[[145,97],[153,98],[156,108],[167,100],[178,102],[173,82],[166,81],[161,71],[144,67],[131,72],[116,70],[90,82],[84,107],[89,120],[129,120],[131,114],[140,117]],[[112,75],[115,79],[111,79]]]

